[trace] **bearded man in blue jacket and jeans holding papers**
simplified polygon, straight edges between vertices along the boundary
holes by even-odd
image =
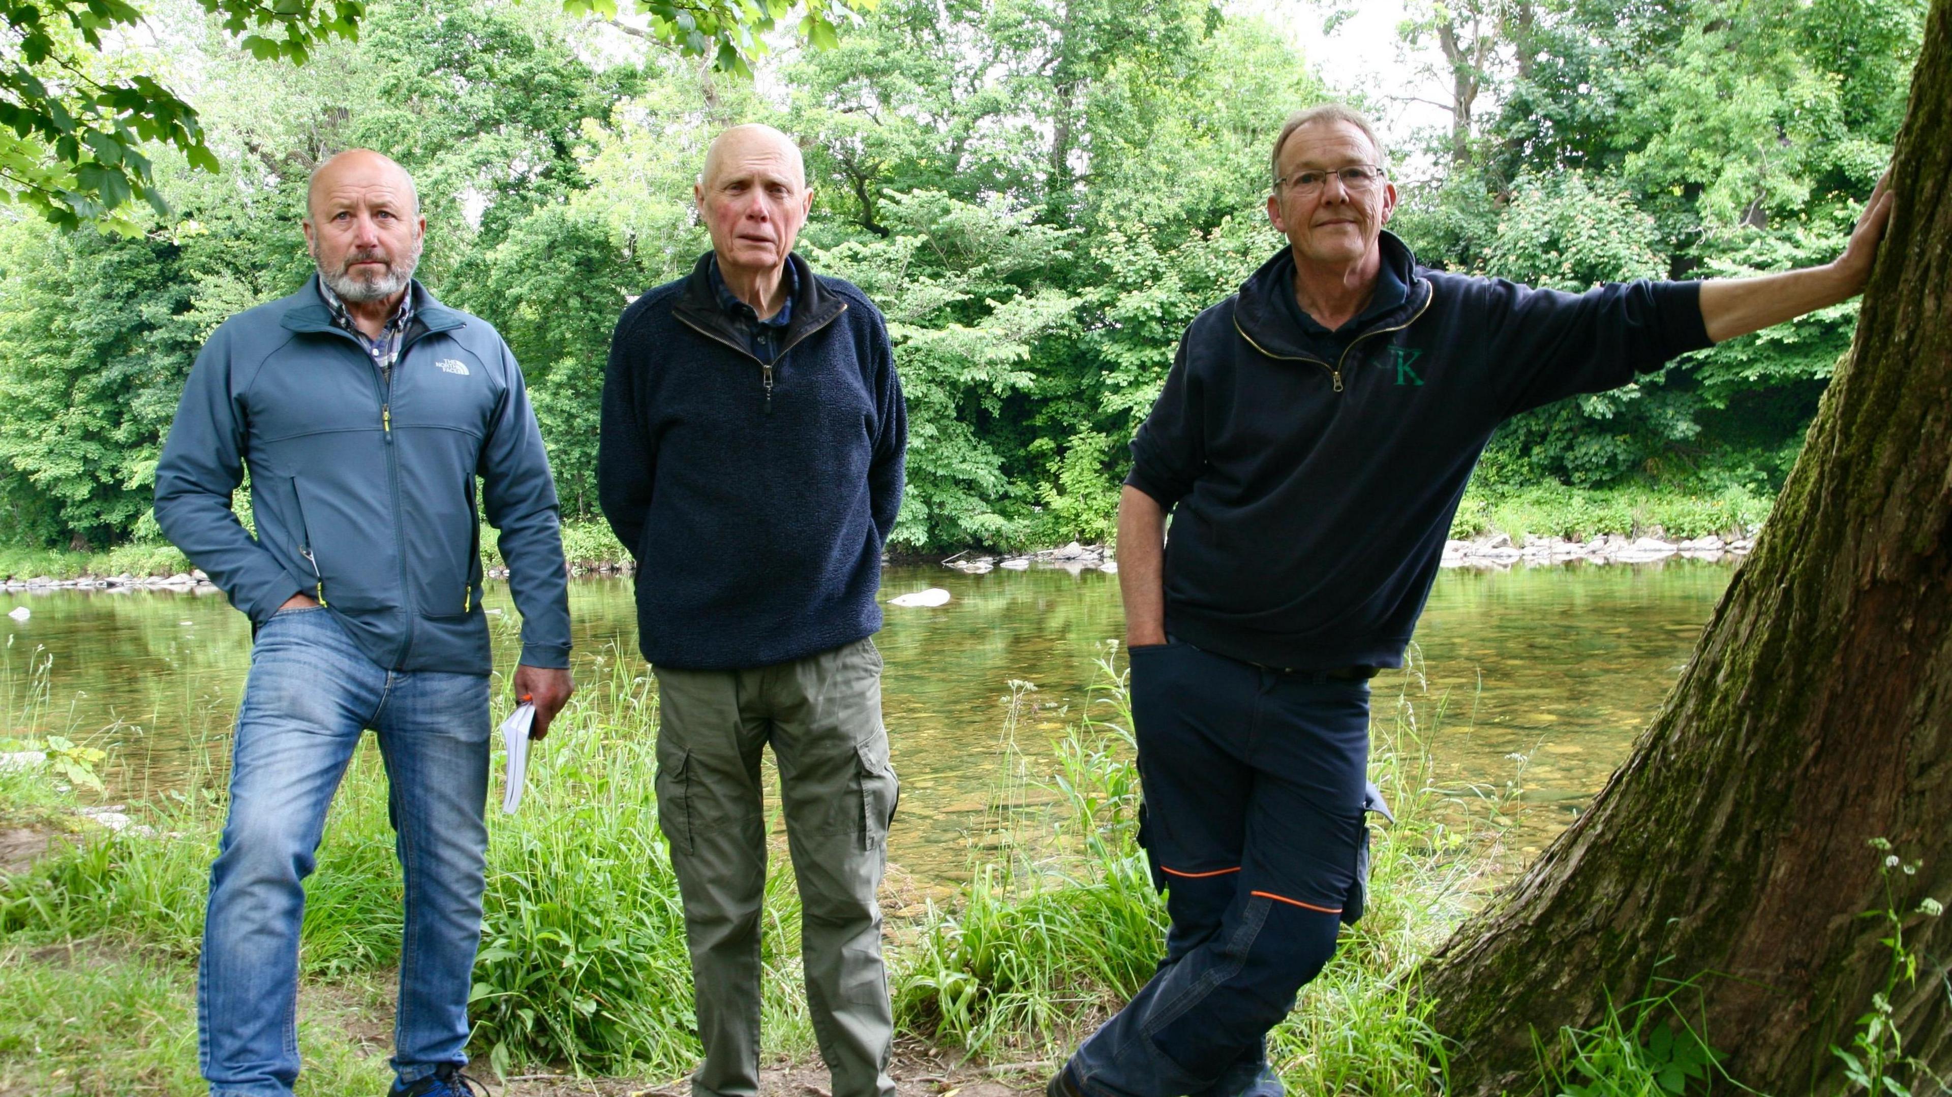
[[[406,874],[392,1093],[478,1091],[461,1066],[488,847],[480,515],[523,617],[533,738],[570,697],[570,611],[521,369],[494,328],[414,281],[424,232],[392,160],[320,164],[316,275],[217,328],[156,467],[156,521],[254,636],[197,966],[213,1097],[291,1095],[303,884],[367,728]],[[232,511],[246,468],[256,537]]]

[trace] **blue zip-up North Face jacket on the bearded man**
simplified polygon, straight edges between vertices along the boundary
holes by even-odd
[[[316,597],[379,666],[488,673],[480,504],[521,611],[521,662],[570,666],[556,486],[521,369],[484,320],[414,283],[383,385],[318,275],[224,320],[156,465],[156,523],[264,625]],[[388,390],[390,388],[390,390]],[[258,537],[230,494],[250,468]]]

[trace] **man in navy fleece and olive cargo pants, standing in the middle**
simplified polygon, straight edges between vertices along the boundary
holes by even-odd
[[[691,1091],[759,1087],[771,744],[832,1093],[892,1097],[874,892],[896,779],[869,636],[902,506],[902,385],[874,305],[793,254],[812,203],[793,141],[722,133],[693,197],[712,250],[617,322],[597,455],[658,677],[658,816],[705,1044]]]

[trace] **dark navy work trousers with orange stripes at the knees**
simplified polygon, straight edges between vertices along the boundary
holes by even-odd
[[[1130,656],[1140,843],[1171,929],[1070,1079],[1089,1097],[1279,1095],[1267,1031],[1335,953],[1357,886],[1368,683],[1181,642]]]

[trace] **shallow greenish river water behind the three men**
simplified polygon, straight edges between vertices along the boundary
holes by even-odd
[[[1679,677],[1733,570],[1726,564],[1446,570],[1405,671],[1374,681],[1378,722],[1403,705],[1433,783],[1484,806],[1513,857],[1536,853],[1622,761]],[[937,609],[886,609],[884,712],[902,814],[890,855],[923,884],[960,878],[968,832],[1005,773],[1042,777],[1050,740],[1083,709],[1103,642],[1122,632],[1117,576],[1058,568],[968,576],[896,566],[884,597],[945,588]],[[0,597],[0,726],[117,746],[115,792],[182,785],[223,736],[250,664],[250,627],[215,593],[49,591]],[[511,615],[508,588],[488,605]],[[630,580],[570,586],[578,658],[636,660]],[[513,658],[498,629],[498,666]],[[47,662],[51,658],[51,662]],[[31,668],[45,664],[41,675]],[[1122,658],[1120,658],[1122,662]],[[1003,742],[1011,681],[1037,691]],[[0,744],[4,750],[4,744]],[[1021,753],[1017,753],[1021,752]],[[217,752],[221,755],[221,752]]]

